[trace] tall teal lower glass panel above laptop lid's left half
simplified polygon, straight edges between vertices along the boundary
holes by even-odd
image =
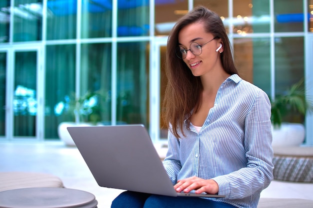
[[[109,125],[111,121],[111,44],[81,45],[81,106],[83,122]],[[81,103],[82,103],[81,102]]]

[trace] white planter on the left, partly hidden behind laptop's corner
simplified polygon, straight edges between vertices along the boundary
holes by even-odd
[[[65,143],[66,146],[76,146],[71,136],[67,131],[69,126],[91,126],[88,123],[75,123],[75,122],[61,122],[57,127],[57,134],[61,141]]]

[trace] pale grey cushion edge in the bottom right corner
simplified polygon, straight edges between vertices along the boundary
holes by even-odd
[[[260,198],[257,208],[313,208],[313,201],[303,199]]]

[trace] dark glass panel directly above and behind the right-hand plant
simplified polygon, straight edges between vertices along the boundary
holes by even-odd
[[[303,37],[276,37],[275,95],[277,96],[285,94],[286,90],[288,90],[292,84],[297,83],[298,81],[303,79],[303,77],[304,77]],[[284,120],[289,122],[292,121],[287,119]]]

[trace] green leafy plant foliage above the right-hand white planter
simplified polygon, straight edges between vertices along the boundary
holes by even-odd
[[[305,98],[304,80],[291,85],[283,95],[271,100],[271,123],[279,128],[283,121],[299,121],[306,112],[313,111],[313,102]],[[303,120],[303,119],[302,119]]]

